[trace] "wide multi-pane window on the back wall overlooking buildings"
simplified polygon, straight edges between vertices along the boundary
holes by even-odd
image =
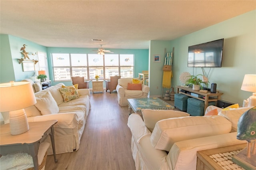
[[[70,81],[71,76],[84,79],[110,79],[110,76],[121,75],[133,77],[133,54],[67,54],[52,53],[54,81]]]

